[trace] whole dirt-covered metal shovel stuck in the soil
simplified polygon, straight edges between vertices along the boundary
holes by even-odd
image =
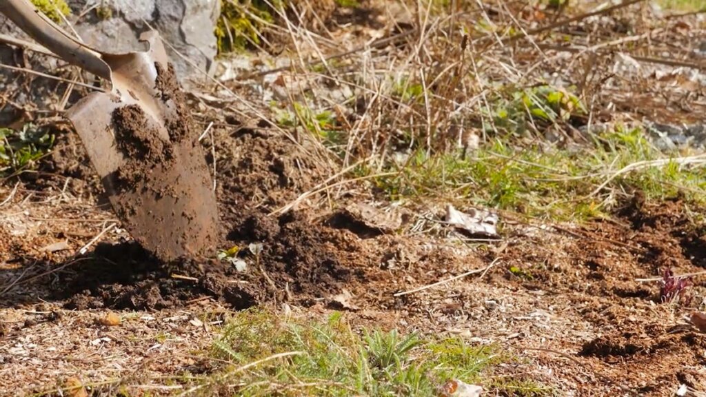
[[[217,208],[203,149],[157,32],[144,52],[109,54],[67,35],[28,0],[0,0],[4,13],[65,61],[111,84],[68,109],[118,218],[162,261],[213,249]]]

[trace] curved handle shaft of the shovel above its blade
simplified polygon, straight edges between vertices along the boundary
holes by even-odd
[[[29,0],[0,0],[0,13],[4,13],[18,28],[61,59],[108,81],[112,80],[110,67],[101,59],[100,54],[74,40],[56,23],[37,11]]]

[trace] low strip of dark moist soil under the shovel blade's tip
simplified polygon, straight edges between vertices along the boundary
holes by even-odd
[[[334,248],[328,241],[335,237],[299,215],[279,221],[253,215],[234,234],[246,245],[263,243],[259,257],[244,249],[244,273],[216,259],[164,264],[137,244],[102,245],[79,272],[62,275],[56,298],[68,299],[71,309],[162,309],[204,296],[234,309],[270,302],[308,306],[361,278],[361,269],[349,268],[336,252],[356,247]]]

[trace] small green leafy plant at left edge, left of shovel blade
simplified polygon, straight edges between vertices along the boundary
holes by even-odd
[[[23,129],[0,129],[0,175],[32,167],[54,144],[54,135],[25,124]]]

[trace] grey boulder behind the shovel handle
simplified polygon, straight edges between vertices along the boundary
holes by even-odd
[[[4,1],[4,0],[0,0]],[[220,13],[220,0],[67,0],[71,7],[71,28],[88,45],[105,52],[129,52],[142,49],[138,37],[150,26],[157,29],[166,45],[169,59],[184,85],[203,78],[193,68],[212,72],[216,55],[215,21]],[[0,33],[31,40],[13,23],[0,15]],[[33,52],[22,52],[0,42],[0,62],[12,66],[76,78],[57,62]],[[67,74],[68,73],[68,74]],[[37,110],[55,109],[66,93],[66,83],[0,68],[0,126],[22,126]],[[77,99],[71,95],[68,104]],[[42,112],[46,114],[46,112]]]

